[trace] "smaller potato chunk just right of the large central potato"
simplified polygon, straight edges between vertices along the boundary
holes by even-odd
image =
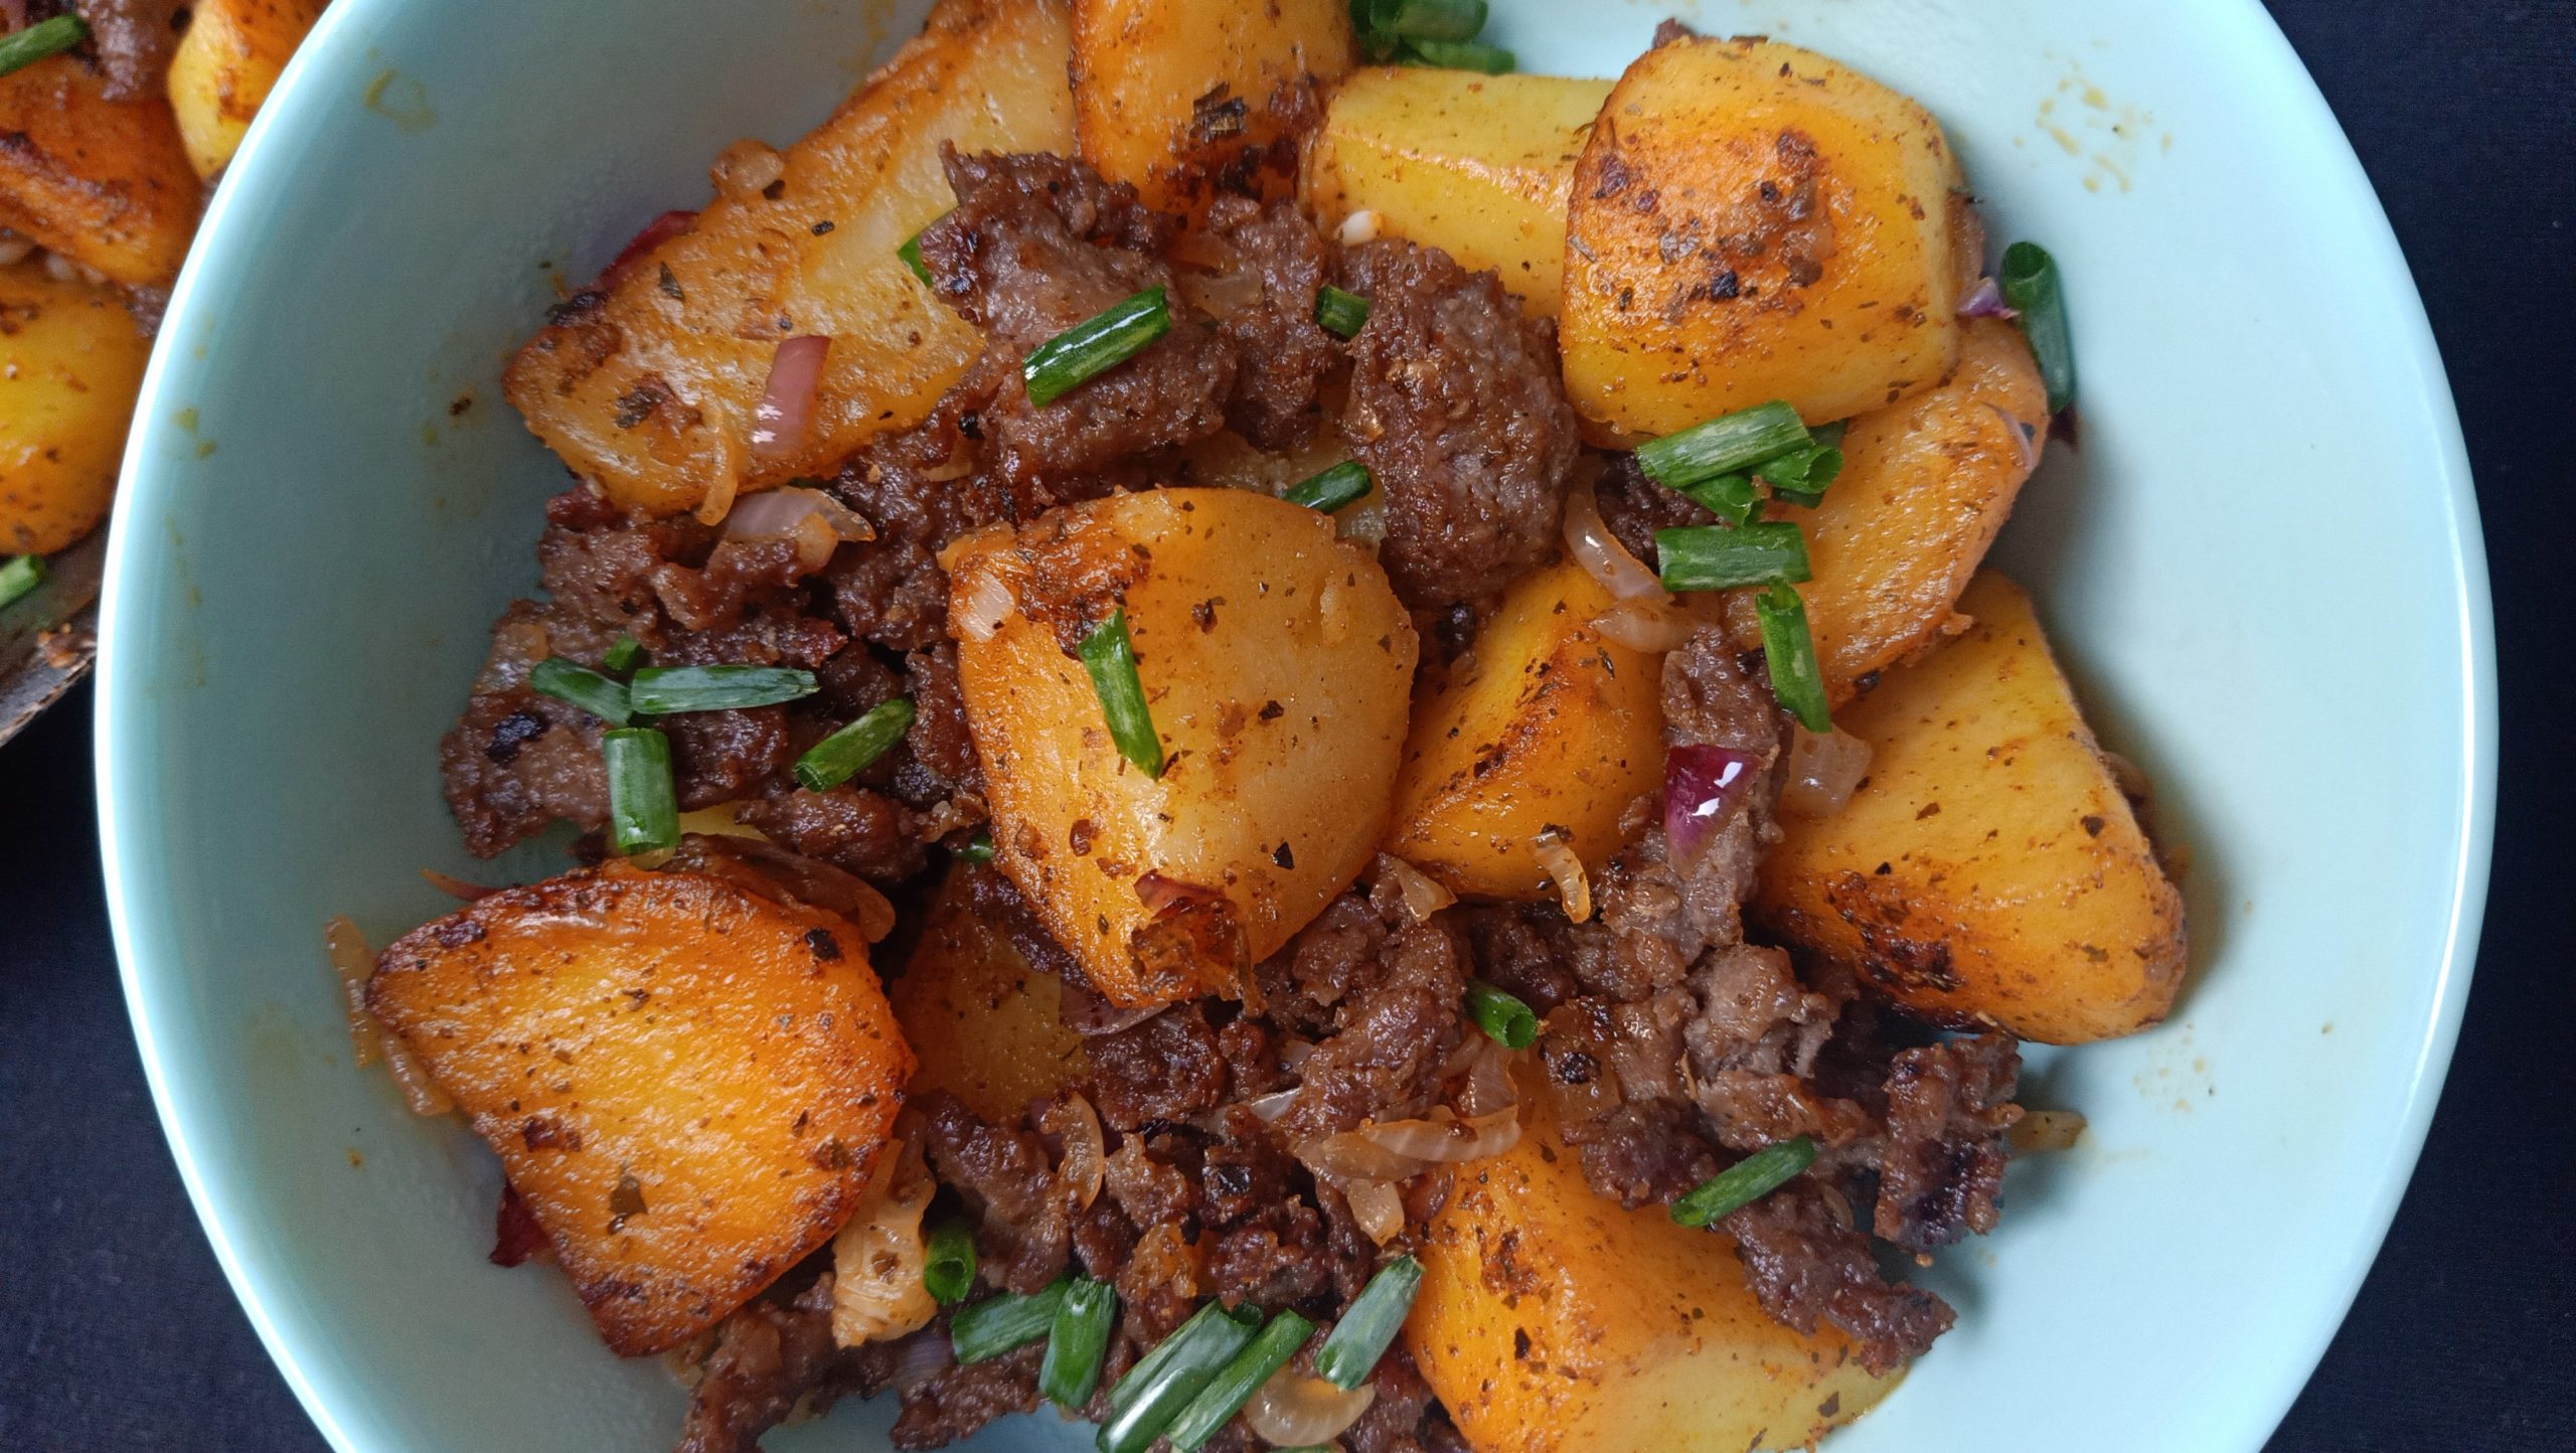
[[[1664,781],[1664,703],[1662,657],[1592,626],[1610,605],[1574,562],[1512,585],[1414,703],[1388,853],[1458,894],[1543,899],[1543,830],[1592,871],[1620,850],[1620,814]]]

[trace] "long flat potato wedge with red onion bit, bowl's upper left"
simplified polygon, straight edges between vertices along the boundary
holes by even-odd
[[[956,198],[940,142],[1069,152],[1061,0],[940,0],[927,28],[783,155],[721,167],[696,224],[580,294],[510,363],[510,402],[574,474],[675,513],[920,423],[981,350],[896,250]],[[757,160],[757,155],[755,155]],[[801,448],[752,453],[778,343],[829,335]],[[714,500],[708,500],[714,495]]]

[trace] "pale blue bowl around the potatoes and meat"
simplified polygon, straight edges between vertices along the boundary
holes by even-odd
[[[680,1394],[549,1273],[497,1170],[350,1067],[319,925],[440,912],[435,747],[564,484],[500,399],[538,312],[786,142],[922,3],[340,0],[222,188],[116,518],[100,781],[137,1036],[263,1337],[345,1450],[667,1448]],[[1497,0],[1615,75],[1674,5]],[[1839,0],[1685,18],[1832,52],[1950,126],[2071,278],[2081,451],[2002,559],[2192,850],[2156,1033],[2035,1054],[2092,1118],[1927,1273],[1960,1327],[1847,1453],[2257,1448],[2414,1164],[2483,899],[2494,685],[2468,469],[2398,250],[2251,0]],[[2007,1396],[1996,1396],[2007,1391]],[[466,1396],[459,1396],[469,1391]],[[845,1407],[770,1448],[876,1448]],[[976,1448],[1074,1445],[1012,1420]]]

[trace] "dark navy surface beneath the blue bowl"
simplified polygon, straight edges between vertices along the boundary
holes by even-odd
[[[2576,1450],[2576,1074],[2553,935],[2568,889],[2550,886],[2568,863],[2553,819],[2576,801],[2540,708],[2576,629],[2576,0],[2272,13],[2370,167],[2450,361],[2496,585],[2506,783],[2432,1141],[2272,1448]],[[0,1450],[314,1453],[188,1211],[126,1033],[88,688],[0,747]]]

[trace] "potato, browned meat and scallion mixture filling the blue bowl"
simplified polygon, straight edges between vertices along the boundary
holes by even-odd
[[[582,482],[440,768],[587,866],[335,961],[683,1448],[1808,1443],[2079,1131],[2017,1041],[2169,1010],[1978,572],[2048,255],[1826,57],[1481,18],[943,0],[513,363]]]

